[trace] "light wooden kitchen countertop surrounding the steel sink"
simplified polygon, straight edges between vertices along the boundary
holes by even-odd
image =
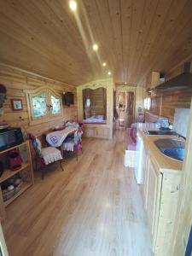
[[[143,143],[145,148],[148,149],[149,154],[153,157],[156,165],[160,168],[160,172],[182,172],[183,162],[179,160],[173,160],[160,152],[160,149],[156,147],[154,141],[160,138],[176,138],[174,136],[147,136],[144,131],[148,129],[139,129],[141,137],[143,137]],[[152,129],[150,129],[152,130]]]

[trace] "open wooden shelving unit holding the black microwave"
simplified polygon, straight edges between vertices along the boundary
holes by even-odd
[[[19,150],[21,150],[22,147],[24,147],[26,150],[26,161],[23,161],[20,168],[15,171],[5,168],[3,175],[0,177],[0,184],[2,184],[4,181],[9,179],[10,177],[15,176],[15,174],[17,173],[20,173],[20,175],[22,176],[22,172],[24,171],[26,172],[27,170],[28,170],[28,176],[26,178],[23,178],[22,183],[20,185],[20,191],[17,192],[15,195],[13,195],[8,201],[3,201],[3,193],[2,193],[2,189],[0,189],[0,218],[1,219],[4,219],[6,217],[5,207],[8,207],[12,201],[15,201],[15,199],[18,196],[24,193],[26,189],[30,188],[34,183],[33,170],[32,170],[32,156],[31,156],[30,145],[28,141],[21,143],[20,145],[17,145],[15,147],[8,148],[1,151],[0,156],[6,157],[6,154],[10,150],[14,148],[18,148]]]

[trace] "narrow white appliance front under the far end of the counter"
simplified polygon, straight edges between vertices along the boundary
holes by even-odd
[[[139,136],[137,133],[137,157],[136,157],[136,167],[134,168],[136,181],[138,184],[143,183],[143,154],[144,154],[144,148],[143,148],[143,138]]]

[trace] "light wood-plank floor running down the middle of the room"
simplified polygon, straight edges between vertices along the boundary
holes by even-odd
[[[61,172],[7,208],[3,230],[10,256],[150,256],[143,201],[131,169],[123,166],[124,132],[113,141],[84,138],[84,152]],[[51,170],[52,169],[52,170]]]

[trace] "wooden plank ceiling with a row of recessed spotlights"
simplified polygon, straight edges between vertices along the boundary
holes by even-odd
[[[192,56],[191,10],[191,0],[79,0],[74,15],[67,0],[1,0],[0,61],[67,84],[110,70],[142,85]]]

